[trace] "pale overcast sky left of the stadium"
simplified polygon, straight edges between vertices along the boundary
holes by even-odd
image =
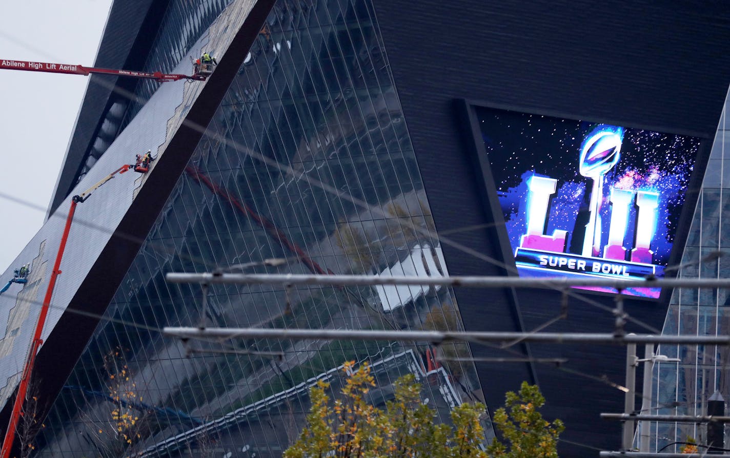
[[[5,1],[0,59],[92,66],[111,4]],[[87,83],[81,75],[0,70],[0,272],[43,225]]]

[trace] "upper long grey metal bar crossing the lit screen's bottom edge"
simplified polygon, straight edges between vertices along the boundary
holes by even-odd
[[[374,276],[374,275],[293,275],[280,273],[168,273],[171,283],[201,284],[312,284],[312,285],[423,285],[474,288],[608,287],[626,288],[730,288],[730,279],[534,279],[517,276]]]

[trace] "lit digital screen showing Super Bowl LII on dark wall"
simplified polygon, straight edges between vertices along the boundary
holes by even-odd
[[[520,276],[664,276],[699,138],[502,109],[476,113]],[[660,291],[624,293],[658,298]]]

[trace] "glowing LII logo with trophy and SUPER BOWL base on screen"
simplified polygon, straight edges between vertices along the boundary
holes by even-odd
[[[515,261],[523,268],[540,268],[611,277],[644,277],[656,273],[651,249],[659,194],[652,190],[623,189],[609,184],[608,202],[604,199],[605,176],[621,159],[623,129],[604,127],[591,132],[578,155],[578,171],[592,180],[588,223],[580,255],[566,252],[567,230],[545,234],[550,197],[556,193],[558,179],[533,175],[527,179],[526,231],[515,250]],[[610,204],[609,209],[604,206]],[[631,206],[636,218],[629,220]],[[610,214],[607,238],[603,234],[602,214]],[[626,233],[633,223],[633,247],[626,249]],[[557,223],[559,225],[559,222]],[[605,243],[602,241],[605,239]]]

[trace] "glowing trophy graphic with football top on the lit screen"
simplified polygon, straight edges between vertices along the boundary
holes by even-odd
[[[603,177],[621,158],[623,131],[599,131],[591,134],[580,150],[580,174],[593,179],[591,216],[585,225],[583,256],[601,255],[601,206]]]

